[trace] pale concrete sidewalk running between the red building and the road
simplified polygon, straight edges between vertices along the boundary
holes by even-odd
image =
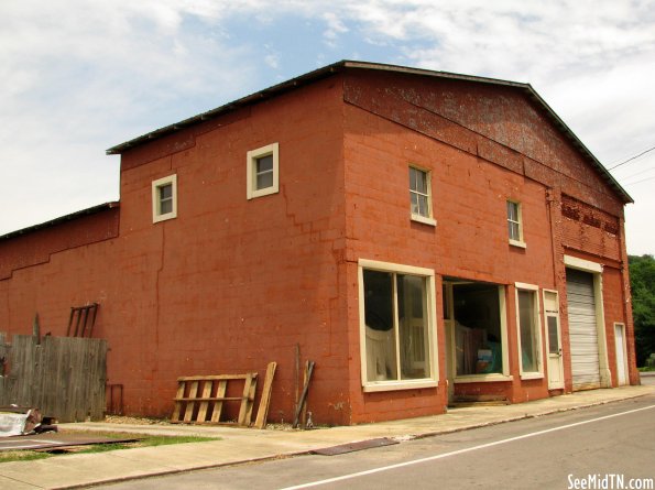
[[[79,488],[95,483],[299,455],[314,449],[378,437],[407,440],[629,400],[652,393],[655,393],[655,385],[592,390],[515,405],[472,406],[428,417],[294,432],[225,426],[62,424],[59,426],[62,431],[201,435],[221,439],[58,456],[35,461],[4,462],[0,464],[0,488]]]

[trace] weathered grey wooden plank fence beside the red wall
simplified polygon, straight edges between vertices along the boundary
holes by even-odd
[[[7,344],[0,334],[0,357],[8,364],[0,377],[0,405],[37,407],[58,422],[105,416],[106,340],[46,336],[39,342],[14,335]]]

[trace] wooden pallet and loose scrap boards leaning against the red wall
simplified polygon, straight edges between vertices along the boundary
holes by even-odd
[[[307,399],[307,390],[314,362],[308,362],[309,369],[305,373],[305,385],[299,403],[296,403],[294,428],[298,425],[301,412]],[[276,362],[270,362],[266,368],[264,386],[261,393],[256,420],[256,428],[265,428],[271,403],[273,378]],[[171,422],[174,424],[231,424],[242,427],[252,425],[252,412],[256,391],[258,373],[193,375],[177,379],[177,393],[174,399],[175,407]],[[225,405],[239,402],[239,413],[236,420],[225,421]],[[312,423],[306,424],[310,428]]]

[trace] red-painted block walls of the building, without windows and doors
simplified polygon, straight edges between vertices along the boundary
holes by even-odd
[[[245,154],[273,142],[280,193],[248,200]],[[410,164],[432,171],[436,227],[410,220]],[[153,224],[151,184],[172,174],[177,218]],[[580,239],[563,218],[563,193],[614,219],[619,233]],[[507,243],[507,198],[522,203],[526,249]],[[621,307],[622,205],[510,88],[336,74],[125,151],[120,229],[117,213],[70,225],[96,230],[86,241],[67,242],[65,226],[34,232],[30,253],[23,238],[0,241],[0,330],[30,331],[37,311],[44,331],[63,335],[70,306],[100,303],[96,335],[109,340],[108,382],[124,385],[128,414],[168,415],[177,377],[258,371],[262,383],[277,361],[270,417],[290,421],[297,345],[303,361],[316,361],[308,407],[317,424],[440,413],[441,276],[506,288],[513,379],[456,392],[547,396],[547,378],[518,375],[514,283],[558,290],[564,302],[563,259],[576,251],[610,264],[605,318],[632,335]],[[44,253],[44,241],[63,244]],[[438,388],[362,392],[359,259],[436,271]]]

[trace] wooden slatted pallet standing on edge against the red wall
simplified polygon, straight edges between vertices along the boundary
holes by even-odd
[[[219,424],[225,402],[241,402],[238,425],[249,426],[256,389],[256,372],[245,374],[194,375],[177,378],[173,423]],[[228,383],[243,381],[241,396],[226,396]]]

